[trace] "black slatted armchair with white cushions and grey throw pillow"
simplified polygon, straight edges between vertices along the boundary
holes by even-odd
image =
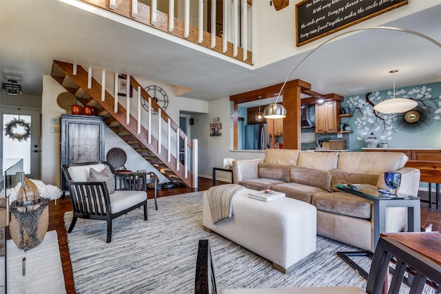
[[[147,187],[145,173],[118,174],[106,161],[62,165],[68,181],[73,218],[107,221],[107,243],[112,240],[112,220],[143,207],[147,220]]]

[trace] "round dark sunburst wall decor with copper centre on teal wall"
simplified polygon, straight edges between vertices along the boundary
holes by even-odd
[[[403,132],[416,133],[427,129],[431,123],[433,119],[429,116],[429,108],[418,105],[409,112],[397,114],[395,125]]]

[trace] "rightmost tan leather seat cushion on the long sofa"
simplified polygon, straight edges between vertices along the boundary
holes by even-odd
[[[312,197],[316,209],[353,218],[371,218],[372,202],[345,192],[319,193]]]

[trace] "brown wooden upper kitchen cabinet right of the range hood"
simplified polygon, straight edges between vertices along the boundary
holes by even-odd
[[[316,134],[337,133],[340,126],[340,101],[316,104]]]

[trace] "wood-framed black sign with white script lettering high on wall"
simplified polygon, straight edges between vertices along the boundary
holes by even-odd
[[[407,0],[301,1],[296,4],[296,45],[305,45],[405,4]]]

